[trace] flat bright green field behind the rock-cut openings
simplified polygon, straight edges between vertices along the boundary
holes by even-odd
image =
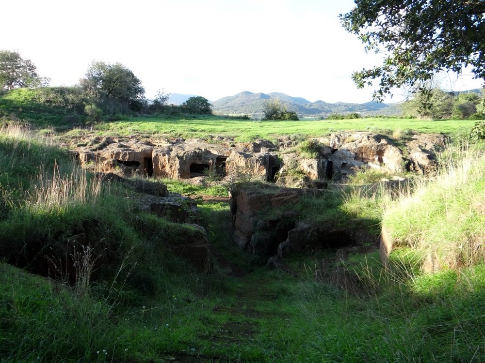
[[[243,121],[207,116],[194,120],[139,117],[123,121],[97,124],[98,135],[145,135],[170,137],[232,136],[237,141],[257,138],[274,140],[278,136],[296,135],[307,137],[326,136],[338,131],[372,131],[391,134],[394,130],[412,130],[422,133],[443,133],[450,136],[468,135],[475,121],[414,119],[356,119],[322,121]],[[73,130],[74,135],[83,132]]]

